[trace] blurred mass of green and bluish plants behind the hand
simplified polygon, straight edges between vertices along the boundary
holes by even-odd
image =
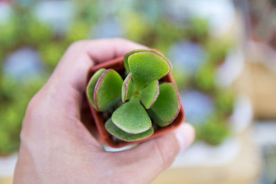
[[[228,117],[235,95],[217,85],[215,75],[235,43],[214,37],[207,18],[170,6],[169,1],[14,1],[2,8],[0,154],[18,150],[28,101],[66,48],[81,39],[108,37],[164,52],[174,65],[186,121],[197,128],[197,140],[211,145],[224,141],[230,135]]]

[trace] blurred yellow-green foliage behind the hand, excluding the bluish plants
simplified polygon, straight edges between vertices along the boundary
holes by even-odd
[[[124,30],[126,39],[157,48],[164,54],[168,54],[169,48],[178,41],[193,41],[204,46],[208,52],[208,63],[199,68],[195,78],[190,79],[180,68],[174,68],[173,74],[180,90],[195,85],[204,92],[218,94],[215,99],[217,114],[224,115],[214,116],[197,127],[197,139],[217,145],[228,135],[225,119],[233,110],[234,97],[228,91],[220,93],[214,78],[217,65],[224,60],[231,45],[210,38],[205,19],[173,19],[160,10],[159,3],[132,1],[122,6],[113,3],[116,11],[114,7],[106,10],[104,2],[109,1],[72,1],[75,12],[72,13],[68,30],[62,34],[36,17],[33,11],[36,1],[30,1],[27,5],[19,1],[12,3],[10,19],[0,23],[0,155],[18,150],[21,122],[28,102],[46,82],[68,45],[80,39],[97,38],[94,34],[97,25],[107,17],[120,21],[119,26]],[[6,57],[26,45],[39,52],[46,71],[35,79],[17,81],[5,75],[3,65]]]

